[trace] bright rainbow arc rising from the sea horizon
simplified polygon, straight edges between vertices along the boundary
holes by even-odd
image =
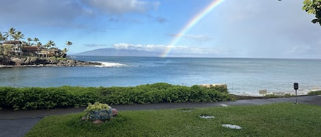
[[[170,52],[170,50],[172,50],[174,45],[179,41],[179,39],[183,35],[185,35],[185,33],[189,29],[191,29],[194,25],[196,25],[199,20],[204,18],[204,16],[209,14],[209,12],[214,10],[214,8],[217,7],[218,5],[220,5],[220,3],[222,3],[223,1],[224,0],[214,0],[214,1],[212,1],[204,10],[202,10],[201,12],[196,14],[196,16],[194,16],[190,21],[188,21],[188,23],[181,29],[181,31],[179,31],[179,33],[177,35],[175,35],[175,38],[170,42],[170,44],[168,46],[166,46],[166,49],[164,50],[164,52],[161,55],[161,57],[166,57],[168,55],[168,53]]]

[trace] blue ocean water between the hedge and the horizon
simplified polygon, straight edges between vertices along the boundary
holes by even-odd
[[[229,59],[178,57],[90,57],[95,67],[0,67],[0,86],[128,87],[155,82],[172,85],[227,84],[239,95],[321,90],[321,59]]]

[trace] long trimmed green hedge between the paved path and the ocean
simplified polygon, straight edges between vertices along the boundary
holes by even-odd
[[[88,103],[149,104],[233,100],[226,88],[155,83],[136,87],[0,87],[0,108],[44,109],[86,106]]]

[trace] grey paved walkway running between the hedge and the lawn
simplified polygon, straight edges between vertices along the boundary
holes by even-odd
[[[215,106],[244,106],[261,105],[279,102],[296,102],[296,97],[237,100],[235,102],[213,102],[213,103],[162,103],[162,104],[134,104],[115,105],[112,108],[120,110],[153,110],[153,109],[175,109],[175,108],[205,108]],[[298,97],[300,104],[315,104],[321,106],[321,96]],[[40,119],[49,115],[64,115],[76,112],[84,112],[85,108],[60,108],[49,110],[0,110],[0,137],[24,136],[31,130]]]

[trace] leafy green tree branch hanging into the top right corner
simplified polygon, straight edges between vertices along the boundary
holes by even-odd
[[[305,10],[308,14],[316,15],[316,18],[311,22],[321,25],[321,0],[305,0],[303,4],[302,10]]]

